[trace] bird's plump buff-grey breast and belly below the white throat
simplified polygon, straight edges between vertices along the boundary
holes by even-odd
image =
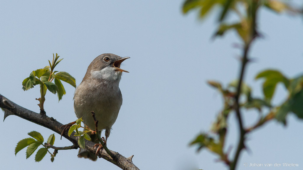
[[[76,116],[82,117],[84,123],[90,128],[94,128],[91,111],[95,112],[100,129],[111,128],[117,119],[121,105],[122,94],[119,81],[84,80],[75,90]]]

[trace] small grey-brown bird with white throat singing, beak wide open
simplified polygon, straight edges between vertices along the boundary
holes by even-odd
[[[95,129],[91,113],[94,111],[96,120],[98,120],[98,129],[100,132],[105,130],[105,143],[122,106],[119,83],[122,72],[129,72],[121,69],[120,65],[128,58],[130,57],[122,58],[109,53],[99,55],[89,64],[82,82],[75,90],[74,111],[77,118],[82,118],[85,126]],[[82,155],[78,156],[96,159],[92,154],[90,156]]]

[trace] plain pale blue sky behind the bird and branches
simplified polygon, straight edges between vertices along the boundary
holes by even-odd
[[[120,82],[123,105],[108,138],[108,148],[128,157],[140,169],[226,169],[215,162],[211,152],[196,153],[188,143],[209,130],[220,111],[221,96],[206,81],[229,83],[238,75],[241,51],[233,47],[239,40],[234,32],[211,41],[216,28],[215,15],[203,22],[197,13],[182,15],[178,1],[1,1],[0,2],[0,93],[13,102],[39,112],[39,89],[24,92],[22,80],[32,70],[48,65],[52,53],[64,60],[56,67],[76,79],[78,85],[90,62],[100,54],[129,56],[123,62]],[[300,0],[293,1],[302,5]],[[261,82],[255,75],[265,68],[283,71],[289,77],[302,74],[302,17],[277,15],[262,10],[259,27],[264,39],[256,41],[250,56],[256,58],[245,76],[261,95]],[[64,83],[66,95],[58,103],[56,95],[46,94],[45,111],[61,123],[76,119],[74,88]],[[285,99],[278,87],[275,103]],[[2,114],[3,115],[3,114]],[[254,111],[245,112],[245,125],[257,121]],[[229,119],[228,145],[238,142],[234,115]],[[9,116],[2,127],[1,169],[119,169],[99,159],[78,159],[78,151],[59,151],[55,161],[46,157],[38,163],[34,155],[25,159],[25,150],[14,154],[15,145],[36,130],[48,138],[53,132],[31,122]],[[288,125],[272,121],[251,133],[238,169],[247,163],[298,163],[303,166],[301,146],[303,121],[288,116]],[[55,134],[55,146],[71,143]],[[96,169],[94,167],[94,169]],[[267,169],[277,169],[275,167]]]

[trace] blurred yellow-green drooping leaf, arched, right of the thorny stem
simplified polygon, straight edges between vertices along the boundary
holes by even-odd
[[[259,78],[265,78],[265,82],[263,83],[263,93],[265,99],[268,101],[271,101],[278,83],[283,83],[286,88],[289,86],[289,80],[277,70],[262,71],[255,77],[255,79]]]

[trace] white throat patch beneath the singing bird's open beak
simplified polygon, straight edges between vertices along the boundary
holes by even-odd
[[[121,71],[116,71],[115,67],[105,67],[102,70],[92,71],[92,77],[105,81],[120,81]]]

